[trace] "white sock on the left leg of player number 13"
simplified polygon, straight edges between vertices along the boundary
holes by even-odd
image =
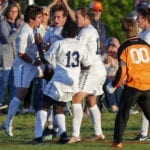
[[[35,121],[35,138],[42,137],[45,123],[47,121],[47,111],[40,110],[36,114]]]

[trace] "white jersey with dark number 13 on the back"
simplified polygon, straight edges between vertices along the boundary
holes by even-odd
[[[45,54],[45,59],[49,63],[56,60],[56,68],[44,94],[56,101],[71,100],[79,91],[81,63],[83,66],[92,64],[86,46],[72,38],[56,41]]]

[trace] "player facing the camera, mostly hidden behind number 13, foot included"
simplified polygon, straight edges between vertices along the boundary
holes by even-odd
[[[51,8],[51,19],[53,20],[52,26],[47,30],[43,37],[43,43],[45,44],[52,44],[57,40],[62,39],[62,29],[63,26],[67,20],[68,12],[66,8],[63,5],[58,5],[56,3]],[[57,125],[55,123],[55,120],[53,120],[53,110],[50,109],[49,116],[48,116],[48,127],[45,128],[43,132],[43,137],[45,139],[49,138],[49,135],[51,136],[51,131],[57,131]]]

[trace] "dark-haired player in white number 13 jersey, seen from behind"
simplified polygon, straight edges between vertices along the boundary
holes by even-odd
[[[69,140],[66,134],[63,106],[79,91],[81,64],[85,69],[89,69],[92,64],[86,46],[75,39],[77,31],[78,27],[74,22],[66,22],[62,30],[64,39],[52,44],[45,54],[45,59],[49,63],[56,64],[54,63],[54,75],[43,92],[41,109],[36,115],[34,143],[43,142],[43,129],[51,105],[54,107],[54,118],[59,128],[59,142],[66,143]]]

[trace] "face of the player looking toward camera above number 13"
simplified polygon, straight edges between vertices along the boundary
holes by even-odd
[[[53,19],[54,19],[54,26],[55,27],[63,27],[67,17],[63,15],[63,11],[56,11],[54,12]]]

